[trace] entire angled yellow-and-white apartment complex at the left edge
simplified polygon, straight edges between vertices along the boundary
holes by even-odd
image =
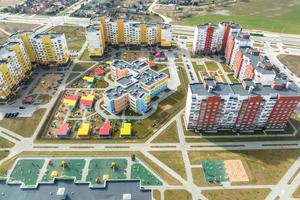
[[[62,33],[23,31],[12,34],[10,42],[0,47],[0,99],[6,100],[16,94],[22,82],[30,77],[34,64],[65,65],[69,59]]]

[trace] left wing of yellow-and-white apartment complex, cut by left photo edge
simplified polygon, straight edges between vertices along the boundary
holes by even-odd
[[[31,73],[32,65],[22,41],[8,42],[0,47],[0,99],[15,94]]]

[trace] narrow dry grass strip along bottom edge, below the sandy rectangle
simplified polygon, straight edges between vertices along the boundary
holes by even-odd
[[[212,200],[264,200],[270,189],[204,190],[203,195]]]

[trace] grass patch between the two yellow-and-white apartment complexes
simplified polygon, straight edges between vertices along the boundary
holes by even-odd
[[[70,50],[79,51],[85,42],[85,29],[79,26],[56,26],[51,31],[64,33]]]

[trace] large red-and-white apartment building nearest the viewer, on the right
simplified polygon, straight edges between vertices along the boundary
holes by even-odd
[[[299,101],[296,84],[282,79],[271,85],[251,79],[241,84],[205,79],[189,85],[185,121],[195,131],[282,130]]]

